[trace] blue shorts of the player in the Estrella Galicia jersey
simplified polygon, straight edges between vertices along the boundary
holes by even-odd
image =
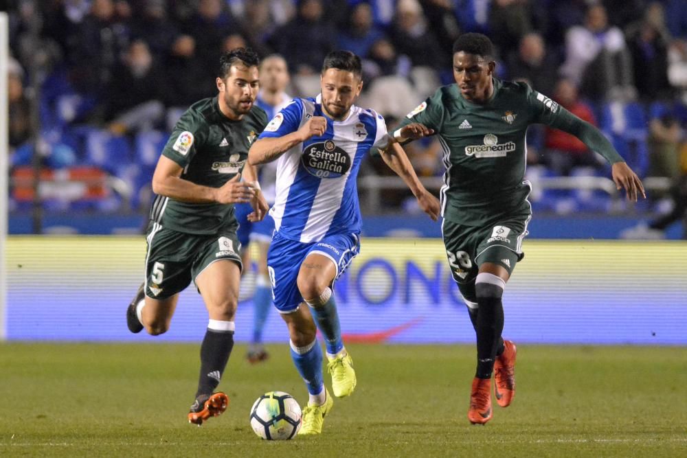
[[[337,268],[334,279],[346,270],[360,250],[357,233],[328,236],[319,242],[303,243],[275,232],[267,251],[267,270],[272,282],[274,306],[280,313],[291,313],[303,302],[297,279],[301,263],[311,253],[328,257]]]

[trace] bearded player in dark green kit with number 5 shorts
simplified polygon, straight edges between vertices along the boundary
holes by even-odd
[[[235,203],[251,203],[249,220],[267,213],[248,149],[267,124],[254,105],[258,56],[245,48],[220,58],[218,95],[183,113],[153,174],[157,194],[150,211],[146,281],[128,307],[131,332],[153,336],[170,327],[179,293],[191,281],[203,297],[210,321],[201,344],[201,371],[188,421],[203,424],[227,408],[214,393],[234,346],[234,314],[243,267]],[[243,171],[244,181],[239,181]]]

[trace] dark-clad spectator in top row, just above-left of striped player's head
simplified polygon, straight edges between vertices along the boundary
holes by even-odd
[[[270,38],[297,75],[318,75],[324,56],[335,48],[336,30],[322,14],[321,0],[300,0],[296,17]]]

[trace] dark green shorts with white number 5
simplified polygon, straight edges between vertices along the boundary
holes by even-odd
[[[196,236],[152,222],[146,237],[146,296],[167,299],[181,293],[192,279],[218,260],[232,260],[243,269],[237,228],[234,225],[212,236]]]

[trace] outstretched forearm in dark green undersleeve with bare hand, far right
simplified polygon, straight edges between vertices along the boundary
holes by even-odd
[[[608,141],[598,128],[572,113],[563,114],[551,125],[581,139],[587,145],[587,148],[598,152],[609,161],[611,164],[611,176],[616,183],[616,188],[618,190],[624,188],[628,200],[637,202],[639,194],[646,198],[644,185],[642,185],[640,177],[625,163],[620,154],[613,148],[611,142]]]

